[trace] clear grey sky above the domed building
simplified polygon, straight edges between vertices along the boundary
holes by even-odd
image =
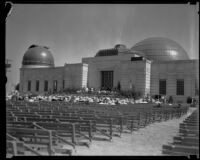
[[[150,37],[170,38],[199,59],[198,10],[187,4],[14,4],[6,21],[6,59],[12,60],[6,92],[19,82],[32,44],[48,46],[55,66]]]

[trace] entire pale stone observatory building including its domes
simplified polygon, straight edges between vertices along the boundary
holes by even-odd
[[[168,95],[185,102],[197,95],[199,60],[168,38],[148,38],[128,49],[118,44],[99,50],[82,63],[54,66],[49,48],[31,46],[20,68],[20,92],[41,94],[65,88],[134,90],[143,95]]]

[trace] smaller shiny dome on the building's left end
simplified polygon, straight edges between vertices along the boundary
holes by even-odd
[[[47,47],[31,45],[24,54],[23,67],[54,67],[54,58]]]

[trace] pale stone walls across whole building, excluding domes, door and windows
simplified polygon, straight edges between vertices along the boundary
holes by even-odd
[[[195,96],[195,82],[199,81],[198,60],[131,61],[132,57],[135,55],[127,53],[83,58],[82,63],[65,64],[62,67],[22,67],[20,91],[29,92],[28,81],[31,81],[31,93],[44,93],[45,80],[48,81],[48,92],[53,90],[54,80],[57,80],[57,91],[83,87],[101,89],[101,71],[113,71],[113,88],[120,83],[121,90],[132,90],[134,87],[143,95],[159,95],[159,80],[164,79],[166,95],[172,96],[175,101],[186,102],[188,96]],[[184,95],[177,95],[177,79],[184,81]],[[38,92],[36,92],[37,80],[39,80]]]

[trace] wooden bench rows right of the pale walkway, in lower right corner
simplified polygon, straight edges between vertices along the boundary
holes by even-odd
[[[199,158],[199,122],[198,111],[195,110],[179,126],[179,135],[174,137],[173,143],[163,145],[164,155],[190,156]]]

